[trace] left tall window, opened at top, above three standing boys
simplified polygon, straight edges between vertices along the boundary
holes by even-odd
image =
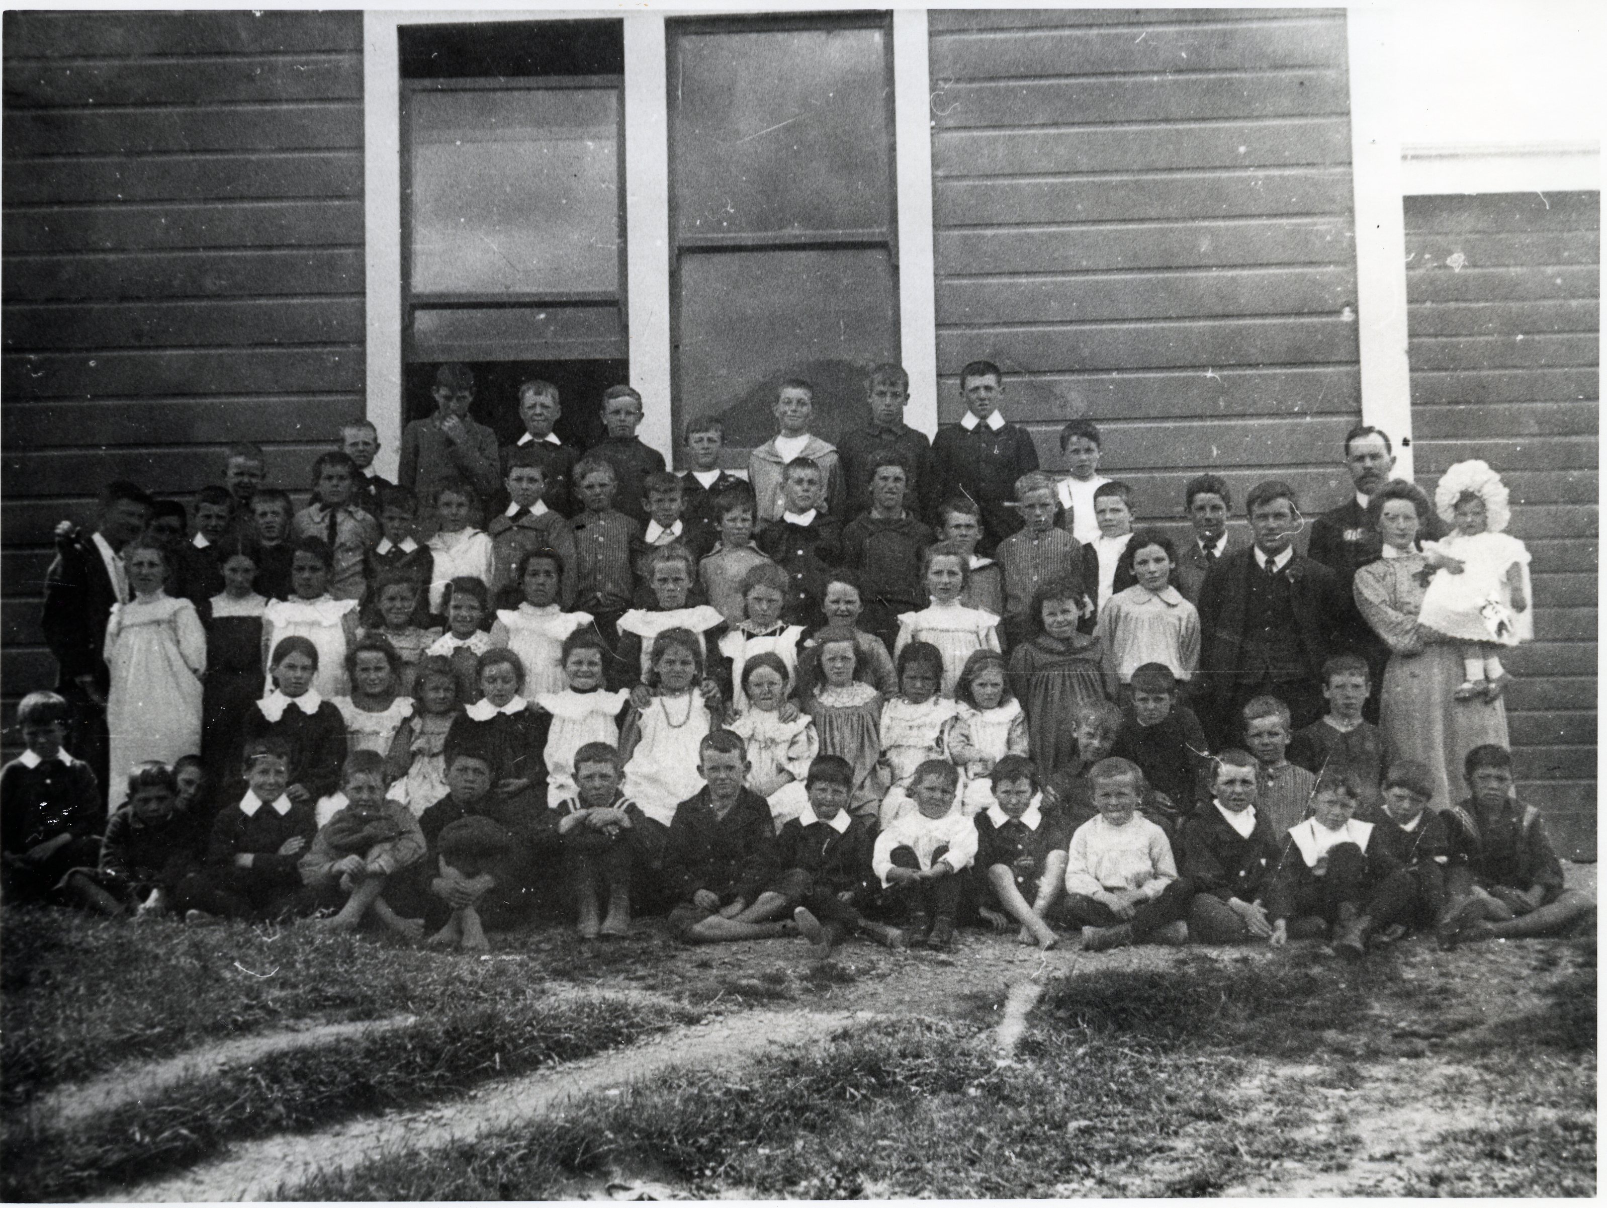
[[[556,381],[575,424],[627,376],[622,24],[400,35],[410,416],[453,360],[476,368],[476,411],[505,437],[522,378]]]

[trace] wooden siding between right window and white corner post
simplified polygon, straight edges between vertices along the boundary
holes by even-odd
[[[1345,19],[1324,10],[930,16],[940,418],[998,361],[1045,467],[1178,517],[1213,469],[1345,493],[1360,411]]]

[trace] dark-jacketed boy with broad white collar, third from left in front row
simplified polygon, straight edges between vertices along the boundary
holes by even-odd
[[[188,924],[278,919],[313,903],[302,895],[297,858],[318,830],[313,800],[292,802],[291,749],[280,737],[246,742],[246,795],[219,811],[206,867],[185,877],[174,908]]]

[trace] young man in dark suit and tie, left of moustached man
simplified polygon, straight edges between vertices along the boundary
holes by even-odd
[[[1300,514],[1295,492],[1263,482],[1245,500],[1255,543],[1226,554],[1200,586],[1197,712],[1218,750],[1239,741],[1239,710],[1255,696],[1289,705],[1294,728],[1323,715],[1323,663],[1335,649],[1335,575],[1290,545]]]

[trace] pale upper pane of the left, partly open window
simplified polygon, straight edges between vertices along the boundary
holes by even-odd
[[[619,93],[410,93],[415,294],[615,292]]]

